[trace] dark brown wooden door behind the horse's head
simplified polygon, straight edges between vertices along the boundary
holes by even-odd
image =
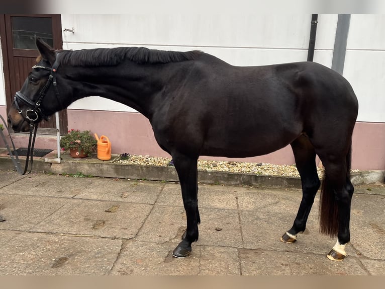
[[[0,36],[3,50],[6,83],[7,108],[15,93],[20,90],[25,79],[36,64],[39,51],[35,46],[35,35],[42,38],[54,49],[62,48],[60,15],[0,15]],[[67,131],[67,110],[59,112],[61,134]],[[56,134],[55,116],[39,124],[40,134]]]

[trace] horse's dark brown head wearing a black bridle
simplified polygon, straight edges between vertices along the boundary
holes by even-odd
[[[58,53],[39,38],[36,46],[40,56],[16,93],[8,113],[8,122],[15,131],[28,131],[29,124],[39,123],[64,108],[56,87]]]

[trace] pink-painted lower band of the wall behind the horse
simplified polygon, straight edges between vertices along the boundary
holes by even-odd
[[[96,120],[95,113],[97,114]],[[69,109],[68,128],[91,129],[99,136],[108,136],[112,143],[113,154],[129,153],[170,158],[156,143],[149,121],[139,113]],[[290,146],[265,156],[231,160],[277,165],[295,163]],[[385,123],[356,123],[353,132],[352,169],[385,170]]]

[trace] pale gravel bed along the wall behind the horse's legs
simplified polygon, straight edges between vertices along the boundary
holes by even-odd
[[[120,164],[141,165],[141,166],[169,166],[171,159],[155,158],[151,156],[136,156],[131,155],[123,160],[121,157],[114,162]],[[221,171],[233,173],[247,173],[257,175],[270,176],[286,176],[299,177],[297,167],[295,165],[272,165],[265,163],[246,163],[246,162],[231,162],[231,161],[207,161],[198,160],[198,170],[202,171]],[[320,178],[323,177],[324,169],[317,168]]]

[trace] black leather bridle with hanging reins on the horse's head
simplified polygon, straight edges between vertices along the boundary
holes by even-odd
[[[19,173],[21,175],[25,175],[26,172],[27,172],[28,160],[30,158],[30,155],[31,155],[31,169],[30,169],[30,171],[28,173],[31,173],[31,171],[32,171],[33,150],[34,150],[34,146],[35,146],[36,132],[37,132],[37,128],[38,128],[38,125],[39,125],[37,120],[39,119],[39,117],[40,118],[44,118],[45,120],[49,119],[41,111],[40,104],[42,103],[42,101],[43,101],[43,99],[44,99],[48,89],[50,88],[51,84],[53,85],[53,87],[55,89],[55,95],[56,95],[56,98],[57,98],[60,106],[63,107],[62,103],[60,101],[60,98],[59,98],[59,91],[57,90],[57,83],[56,83],[56,71],[57,71],[57,67],[59,66],[58,56],[59,56],[59,53],[56,54],[56,58],[55,58],[55,61],[54,61],[53,65],[52,65],[52,67],[42,66],[42,65],[34,65],[34,66],[32,66],[32,69],[42,68],[42,69],[46,69],[46,70],[51,71],[46,84],[44,85],[42,90],[39,92],[39,97],[37,98],[36,102],[33,102],[30,98],[26,97],[21,91],[16,92],[16,95],[14,97],[14,103],[15,103],[15,106],[16,106],[19,114],[21,114],[23,116],[23,118],[29,122],[29,133],[30,133],[29,141],[28,141],[27,158],[26,158],[26,164],[25,164],[24,172],[21,173],[20,168],[17,167],[17,169],[18,169],[18,171],[19,171]],[[23,114],[23,110],[20,108],[20,105],[19,105],[20,101],[24,102],[25,104],[27,104],[30,107],[33,107],[33,109],[27,109],[25,114]],[[33,134],[33,139],[32,139],[32,134]],[[12,138],[11,138],[11,141],[12,141]],[[12,145],[14,147],[14,152],[15,152],[15,146],[14,146],[13,141],[12,141]],[[12,158],[12,153],[10,153],[10,156]],[[15,156],[16,156],[17,161],[19,161],[16,152],[15,152]]]

